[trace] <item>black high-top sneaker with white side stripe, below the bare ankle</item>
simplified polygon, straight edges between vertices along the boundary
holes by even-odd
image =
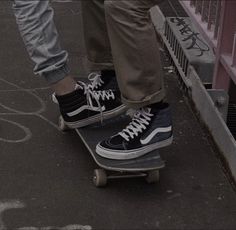
[[[80,83],[72,93],[55,97],[64,123],[71,129],[106,120],[126,111],[119,91],[94,91]]]

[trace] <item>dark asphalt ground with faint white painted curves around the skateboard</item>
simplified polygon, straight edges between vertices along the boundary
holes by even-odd
[[[95,188],[96,165],[74,132],[58,130],[58,108],[32,73],[10,4],[0,1],[1,230],[236,229],[235,191],[173,73],[165,78],[175,141],[161,151],[160,183],[117,180]],[[84,77],[79,2],[53,5],[72,74]]]

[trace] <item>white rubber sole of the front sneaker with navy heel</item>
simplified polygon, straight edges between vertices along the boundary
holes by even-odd
[[[133,149],[133,150],[125,150],[125,151],[118,151],[118,150],[112,150],[102,147],[100,144],[96,146],[96,153],[104,158],[108,159],[114,159],[114,160],[129,160],[134,159],[137,157],[141,157],[153,150],[160,149],[163,147],[166,147],[168,145],[171,145],[173,142],[173,136],[170,138],[153,143],[151,145],[144,146],[139,149]]]

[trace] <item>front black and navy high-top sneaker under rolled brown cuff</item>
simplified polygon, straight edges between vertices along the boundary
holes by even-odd
[[[162,108],[138,110],[129,125],[118,134],[96,146],[98,155],[117,160],[140,157],[173,141],[171,112],[167,103]]]

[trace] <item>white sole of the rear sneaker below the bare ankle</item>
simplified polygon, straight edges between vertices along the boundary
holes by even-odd
[[[107,119],[116,117],[116,116],[124,113],[126,110],[127,110],[127,107],[125,105],[121,105],[119,107],[116,107],[113,110],[103,112],[103,120],[107,120]],[[82,128],[82,127],[97,123],[99,121],[101,121],[101,114],[97,114],[93,117],[86,118],[84,120],[80,120],[80,121],[76,121],[76,122],[64,121],[64,123],[69,129],[77,129],[77,128]]]

